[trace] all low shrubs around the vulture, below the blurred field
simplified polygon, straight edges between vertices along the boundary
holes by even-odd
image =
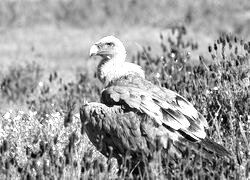
[[[207,118],[208,136],[224,145],[232,158],[218,157],[206,164],[199,152],[187,148],[177,162],[165,157],[163,168],[156,154],[147,175],[141,177],[249,178],[250,43],[222,34],[208,46],[211,57],[200,55],[200,62],[193,65],[190,55],[198,44],[185,40],[184,26],[174,26],[171,31],[171,36],[160,35],[158,55],[151,53],[153,47],[145,47],[133,61],[145,69],[148,79],[188,98]],[[101,87],[88,73],[69,83],[57,72],[41,80],[42,69],[35,63],[10,67],[1,79],[2,101],[27,109],[2,112],[1,179],[125,178],[124,173],[117,174],[114,160],[108,163],[95,150],[79,119],[79,105],[98,101]]]

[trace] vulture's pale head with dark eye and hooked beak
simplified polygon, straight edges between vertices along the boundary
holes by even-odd
[[[126,50],[119,39],[114,36],[106,36],[91,46],[89,56],[101,56],[104,59],[125,61]]]

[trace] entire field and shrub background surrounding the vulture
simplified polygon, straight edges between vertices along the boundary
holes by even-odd
[[[183,160],[150,177],[249,178],[247,0],[0,1],[0,178],[117,176],[78,112],[99,100],[98,60],[88,50],[110,34],[150,80],[188,98],[206,116],[209,137],[233,154],[209,173]]]

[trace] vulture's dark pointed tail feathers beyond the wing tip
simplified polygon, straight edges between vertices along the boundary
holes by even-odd
[[[220,156],[230,157],[231,153],[228,152],[222,145],[210,140],[209,138],[205,138],[201,140],[200,144],[203,146],[205,151],[209,153],[216,153]]]

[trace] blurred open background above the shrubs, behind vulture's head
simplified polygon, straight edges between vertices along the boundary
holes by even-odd
[[[205,53],[221,33],[249,37],[250,5],[246,0],[2,0],[0,61],[7,67],[35,60],[70,79],[77,69],[88,69],[83,61],[100,37],[118,36],[129,57],[142,45],[157,53],[159,33],[180,24],[200,45],[197,54]]]

